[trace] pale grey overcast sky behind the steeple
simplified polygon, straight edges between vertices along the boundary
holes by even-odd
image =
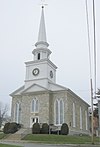
[[[41,16],[41,0],[0,0],[0,101],[24,84],[25,64],[33,60]],[[46,0],[45,23],[57,84],[90,103],[89,55],[85,0]],[[100,88],[100,0],[95,0],[97,87]],[[92,0],[88,0],[93,53]]]

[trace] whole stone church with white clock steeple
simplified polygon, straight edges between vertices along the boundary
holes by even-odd
[[[26,77],[22,87],[11,94],[13,122],[25,128],[33,123],[48,123],[60,127],[67,123],[70,134],[89,134],[89,105],[73,91],[56,84],[56,65],[50,60],[46,40],[44,7],[34,60],[26,62]]]

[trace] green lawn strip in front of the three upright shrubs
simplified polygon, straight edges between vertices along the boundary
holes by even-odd
[[[30,134],[27,135],[24,140],[50,144],[91,144],[90,136]],[[95,137],[94,142],[98,144],[99,138]]]

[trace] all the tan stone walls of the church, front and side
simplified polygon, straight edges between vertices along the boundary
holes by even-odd
[[[39,101],[39,111],[31,111],[32,100],[36,98]],[[88,104],[80,97],[68,90],[55,92],[30,93],[26,95],[14,96],[12,98],[12,121],[15,121],[15,105],[21,103],[20,123],[25,128],[31,127],[31,118],[38,117],[39,123],[48,123],[55,125],[55,100],[62,99],[64,102],[64,123],[69,126],[70,134],[89,133],[86,130],[85,111],[88,112]],[[75,104],[75,126],[73,127],[73,103]],[[80,129],[80,107],[82,110],[82,129]],[[88,114],[88,113],[87,113]],[[88,121],[88,118],[87,118]],[[89,122],[88,122],[89,123]]]

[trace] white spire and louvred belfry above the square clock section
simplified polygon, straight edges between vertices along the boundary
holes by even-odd
[[[35,44],[36,49],[33,50],[34,60],[49,59],[51,51],[48,49],[49,44],[46,38],[44,6],[42,6],[40,27],[38,33],[38,41]]]

